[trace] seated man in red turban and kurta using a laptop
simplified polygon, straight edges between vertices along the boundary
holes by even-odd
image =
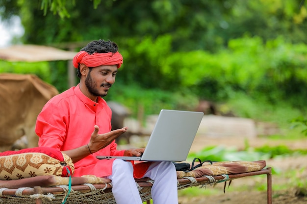
[[[75,164],[74,176],[96,175],[112,181],[117,204],[142,204],[134,178],[154,180],[154,204],[178,204],[177,175],[172,162],[144,162],[142,168],[120,159],[97,155],[140,156],[144,148],[117,150],[115,139],[128,127],[111,131],[111,109],[102,99],[115,82],[123,57],[111,41],[93,41],[74,57],[80,82],[53,97],[37,117],[39,146],[67,154]]]

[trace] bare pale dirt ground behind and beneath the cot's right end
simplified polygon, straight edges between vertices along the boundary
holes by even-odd
[[[280,140],[272,141],[265,138],[253,138],[248,139],[250,146],[257,147],[265,144],[270,146],[276,146],[280,144],[286,144],[292,149],[307,149],[307,138],[300,141],[292,140]],[[236,146],[238,149],[244,148],[244,138],[209,138],[205,136],[196,136],[191,151],[199,151],[205,146],[221,144],[227,147]],[[269,159],[266,161],[267,167],[272,167],[279,172],[285,172],[289,170],[297,170],[300,172],[294,177],[299,177],[301,181],[307,182],[307,157],[286,157],[281,159]],[[299,170],[302,170],[299,171]],[[231,182],[228,190],[226,188],[225,194],[223,192],[224,184],[219,183],[214,188],[220,189],[220,193],[217,195],[198,195],[194,197],[179,196],[179,204],[266,204],[267,194],[266,191],[258,191],[255,188],[255,184],[263,182],[266,183],[266,177],[253,176],[247,178],[236,179]],[[286,185],[289,181],[288,176],[272,175],[273,184],[273,204],[307,204],[307,196],[297,196],[297,189],[289,188],[287,190],[275,190],[274,185]],[[242,190],[243,186],[243,190]],[[213,188],[209,186],[208,188]],[[235,189],[240,188],[236,191]],[[206,189],[204,189],[205,191]]]

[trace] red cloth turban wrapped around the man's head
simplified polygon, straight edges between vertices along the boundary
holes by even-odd
[[[79,68],[80,64],[87,67],[94,68],[101,65],[117,65],[120,68],[123,64],[123,56],[119,52],[97,53],[90,55],[86,51],[80,51],[73,59],[75,68]]]

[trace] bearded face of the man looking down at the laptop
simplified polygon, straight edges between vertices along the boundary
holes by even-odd
[[[116,65],[102,65],[92,68],[85,79],[85,86],[93,96],[106,96],[117,73]]]

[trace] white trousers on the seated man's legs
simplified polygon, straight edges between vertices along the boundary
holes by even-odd
[[[153,162],[144,177],[154,180],[151,192],[153,204],[178,204],[177,174],[172,162]],[[142,204],[131,162],[115,159],[112,175],[106,178],[112,180],[116,204]]]

